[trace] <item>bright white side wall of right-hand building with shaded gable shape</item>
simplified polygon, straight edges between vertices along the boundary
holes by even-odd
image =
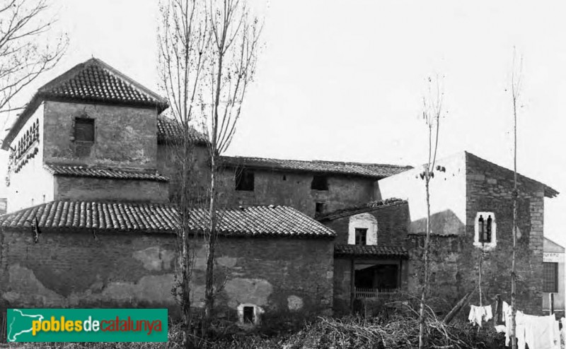
[[[435,234],[463,234],[466,225],[466,157],[458,153],[440,159],[437,165],[446,172],[434,170],[430,180],[430,210],[432,232]],[[420,178],[422,167],[401,172],[379,180],[383,198],[399,198],[409,201],[410,232],[425,232],[427,201],[424,180]]]

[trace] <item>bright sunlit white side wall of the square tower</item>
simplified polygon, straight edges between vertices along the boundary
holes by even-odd
[[[8,192],[8,207],[7,211],[18,211],[21,208],[37,205],[47,201],[52,201],[54,196],[54,182],[53,176],[43,168],[43,144],[45,142],[44,134],[41,130],[44,129],[43,117],[44,105],[37,107],[35,113],[28,119],[28,122],[22,127],[20,133],[12,142],[12,148],[16,148],[18,141],[23,137],[30,126],[39,120],[40,125],[40,138],[39,142],[33,145],[29,151],[37,148],[37,154],[33,158],[28,159],[27,163],[21,167],[21,170],[16,173],[11,170],[9,173],[9,186]],[[25,158],[25,154],[23,155]],[[6,171],[6,167],[2,167]],[[6,175],[6,173],[4,173]]]

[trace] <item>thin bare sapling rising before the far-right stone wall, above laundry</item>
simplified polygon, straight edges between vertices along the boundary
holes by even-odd
[[[521,74],[523,58],[519,60],[519,66],[515,62],[516,53],[513,52],[513,68],[511,73],[511,97],[513,100],[513,254],[511,260],[511,342],[512,348],[517,348],[516,342],[516,249],[517,249],[517,102],[521,95]]]

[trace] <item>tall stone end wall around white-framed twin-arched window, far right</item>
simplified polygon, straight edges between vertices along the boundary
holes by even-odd
[[[519,177],[519,234],[516,269],[518,309],[539,314],[542,309],[544,187]],[[495,213],[497,247],[487,252],[485,293],[510,300],[513,219],[513,172],[466,153],[466,237],[473,237],[478,211]]]

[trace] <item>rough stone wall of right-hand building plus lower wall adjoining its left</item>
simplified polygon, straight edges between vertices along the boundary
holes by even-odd
[[[518,309],[540,314],[543,268],[543,184],[519,177],[516,268]],[[482,256],[484,304],[495,295],[510,302],[512,264],[513,172],[466,153],[466,230],[454,235],[436,235],[430,244],[430,295],[435,306],[449,309],[478,285],[481,248],[475,247],[475,218],[492,212],[497,223],[497,246]],[[434,193],[432,193],[434,195]],[[422,278],[423,235],[411,235],[409,288],[418,290]],[[471,304],[479,304],[476,292]]]

